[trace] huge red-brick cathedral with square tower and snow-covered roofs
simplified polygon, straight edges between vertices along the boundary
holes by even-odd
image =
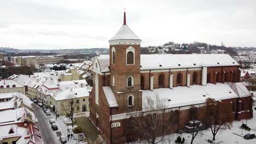
[[[253,117],[252,95],[240,82],[239,64],[231,56],[141,55],[141,41],[127,26],[124,12],[123,26],[109,40],[109,55],[95,57],[90,120],[107,143],[139,139],[127,120],[130,113],[151,111],[147,97],[164,99],[165,109],[174,111],[178,122],[171,133],[183,129],[190,107],[200,110],[206,98],[222,101],[232,110],[233,121]]]

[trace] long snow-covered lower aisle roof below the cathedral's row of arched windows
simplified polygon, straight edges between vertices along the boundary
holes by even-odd
[[[240,84],[238,83],[238,85]],[[245,87],[242,89],[243,91],[248,91]],[[247,94],[247,96],[251,95],[249,93]],[[205,103],[207,98],[223,100],[239,97],[226,82],[216,83],[216,85],[207,83],[206,86],[192,85],[190,87],[173,87],[173,89],[158,88],[153,91],[142,90],[143,110],[148,109],[147,97],[151,97],[155,100],[157,95],[161,99],[163,106],[166,108],[202,104]]]

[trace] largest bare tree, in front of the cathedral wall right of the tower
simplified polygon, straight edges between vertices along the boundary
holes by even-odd
[[[147,97],[144,101],[144,108],[149,110],[148,112],[138,112],[130,118],[133,130],[138,131],[142,139],[150,144],[164,140],[174,120],[173,111],[167,112],[165,109],[164,104],[167,100],[160,99],[157,94],[155,96],[155,98]]]

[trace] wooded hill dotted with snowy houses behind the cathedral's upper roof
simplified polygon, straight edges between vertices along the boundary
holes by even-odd
[[[148,47],[141,47],[142,54],[152,54],[152,53],[159,53],[160,50],[166,49],[165,53],[172,53],[172,54],[190,54],[190,53],[201,53],[201,50],[208,51],[207,53],[211,53],[212,50],[225,50],[226,53],[229,53],[231,56],[237,56],[236,51],[233,47],[225,47],[225,46],[218,46],[218,45],[208,45],[206,43],[200,43],[195,41],[194,43],[183,43],[183,44],[176,44],[173,41],[169,41],[165,43],[163,46],[148,46]],[[200,49],[199,49],[200,47]]]

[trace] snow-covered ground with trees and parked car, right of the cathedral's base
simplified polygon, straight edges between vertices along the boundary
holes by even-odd
[[[247,125],[248,127],[251,128],[251,131],[246,131],[246,130],[242,130],[240,129],[240,126],[242,123],[246,123],[246,120],[242,120],[242,121],[234,121],[233,122],[233,127],[229,130],[229,129],[226,129],[226,130],[221,130],[217,133],[216,135],[216,142],[219,142],[219,141],[224,141],[223,143],[229,143],[229,144],[236,144],[236,143],[242,143],[242,144],[254,144],[256,143],[256,139],[252,139],[252,140],[246,140],[246,139],[243,139],[243,137],[241,136],[238,136],[238,135],[235,135],[233,133],[236,133],[236,134],[241,134],[241,135],[246,135],[248,133],[253,133],[256,135],[256,110],[254,110],[253,112],[253,115],[254,117],[250,120],[247,121]],[[254,129],[254,130],[252,130]],[[179,134],[172,134],[172,135],[167,135],[165,136],[165,140],[162,141],[161,143],[162,144],[165,144],[165,143],[175,143],[174,141],[177,139],[178,136],[181,136],[182,138],[184,137],[185,138],[185,143],[190,143],[191,141],[191,134],[187,134],[187,133],[184,133],[182,135],[179,135]],[[209,143],[205,140],[207,139],[211,139],[212,140],[212,133],[211,133],[211,130],[203,130],[201,131],[199,134],[197,134],[195,140],[194,140],[194,144],[202,144],[202,143]],[[146,142],[136,142],[136,143],[146,143]]]

